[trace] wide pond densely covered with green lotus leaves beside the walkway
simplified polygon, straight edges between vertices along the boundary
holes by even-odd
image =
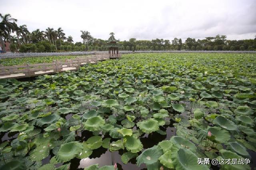
[[[144,53],[1,79],[0,169],[255,168],[255,65],[255,54]]]

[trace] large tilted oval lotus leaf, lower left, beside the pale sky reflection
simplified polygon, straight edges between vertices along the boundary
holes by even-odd
[[[76,157],[83,150],[83,145],[80,142],[68,142],[60,146],[60,150],[56,155],[58,162],[67,162]]]

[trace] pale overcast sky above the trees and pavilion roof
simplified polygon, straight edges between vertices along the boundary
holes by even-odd
[[[256,36],[256,0],[6,0],[0,13],[30,32],[61,27],[74,42],[80,30],[103,40],[110,32],[120,40]]]

